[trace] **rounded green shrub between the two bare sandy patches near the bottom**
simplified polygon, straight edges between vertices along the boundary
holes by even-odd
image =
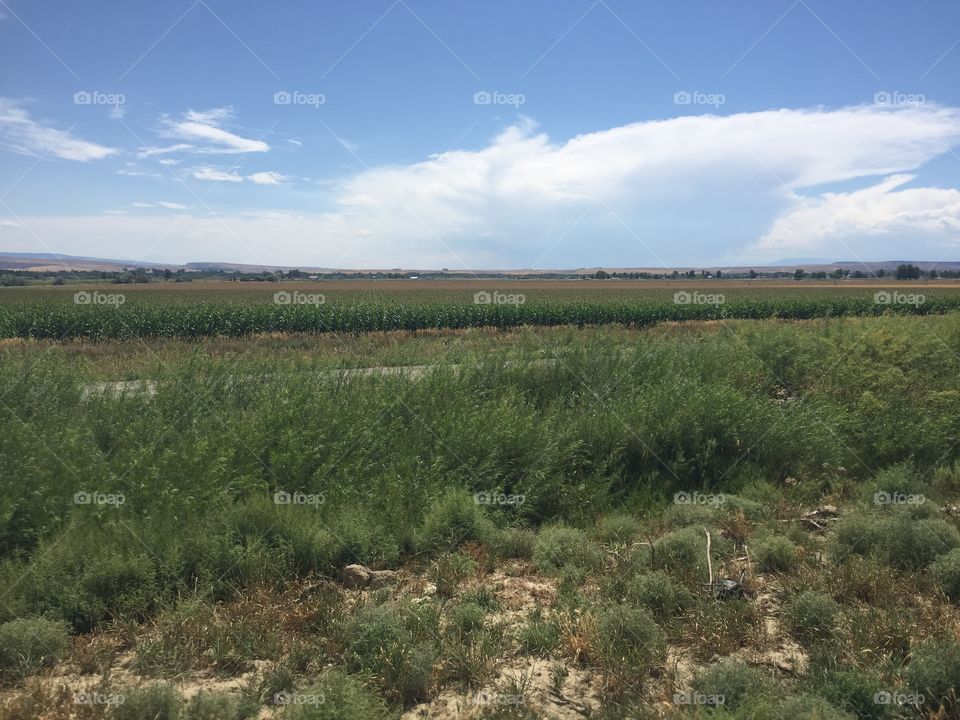
[[[597,656],[617,677],[641,675],[663,663],[666,642],[648,610],[612,605],[597,614]]]

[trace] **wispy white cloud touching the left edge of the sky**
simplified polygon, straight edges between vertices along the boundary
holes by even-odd
[[[115,148],[76,138],[69,130],[58,130],[34,120],[16,100],[2,97],[0,146],[23,155],[49,155],[79,162],[102,160],[119,152]]]

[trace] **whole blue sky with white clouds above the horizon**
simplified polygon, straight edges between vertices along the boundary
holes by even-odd
[[[960,260],[960,3],[0,0],[0,252]]]

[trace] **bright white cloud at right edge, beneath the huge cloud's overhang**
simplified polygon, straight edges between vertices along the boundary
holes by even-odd
[[[914,179],[891,175],[863,190],[796,198],[796,204],[773,223],[759,248],[774,252],[808,251],[831,239],[893,233],[960,237],[960,190],[897,188]]]

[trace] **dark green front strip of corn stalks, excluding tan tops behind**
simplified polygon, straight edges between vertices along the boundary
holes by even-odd
[[[841,315],[935,314],[960,309],[960,297],[880,304],[873,297],[737,298],[721,304],[669,301],[543,301],[522,305],[456,303],[253,305],[196,303],[90,306],[35,302],[0,308],[0,337],[197,338],[255,333],[369,332],[520,325],[653,325],[664,321],[803,320]]]

